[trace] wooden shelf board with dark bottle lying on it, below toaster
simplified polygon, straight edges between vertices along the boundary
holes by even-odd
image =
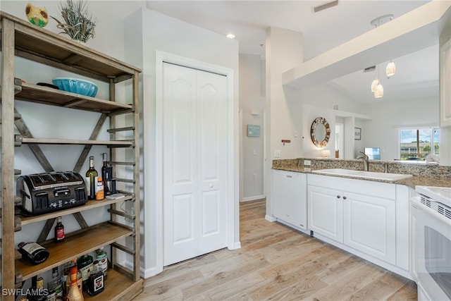
[[[42,264],[32,265],[23,259],[16,260],[16,274],[20,272],[23,280],[27,280],[130,235],[132,231],[128,228],[111,223],[99,223],[87,231],[66,238],[63,242],[50,242],[45,245],[50,256]]]

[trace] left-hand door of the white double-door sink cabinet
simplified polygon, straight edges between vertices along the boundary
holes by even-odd
[[[309,185],[308,196],[309,229],[342,242],[342,192]]]

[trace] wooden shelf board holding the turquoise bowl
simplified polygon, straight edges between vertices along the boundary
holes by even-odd
[[[83,96],[63,90],[56,90],[51,87],[32,85],[27,82],[23,82],[22,90],[16,94],[15,98],[25,102],[36,102],[39,104],[62,106],[87,111],[99,111],[102,113],[132,109],[131,104],[111,102],[105,99]]]

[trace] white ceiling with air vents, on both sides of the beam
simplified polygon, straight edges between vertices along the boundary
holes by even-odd
[[[232,32],[240,53],[264,57],[265,31],[280,27],[302,32],[304,61],[374,29],[371,20],[393,14],[395,18],[426,4],[424,0],[339,0],[338,6],[318,13],[313,6],[326,1],[152,1],[147,7],[208,30]],[[380,77],[384,96],[374,99],[370,91],[375,73],[362,71],[328,82],[352,99],[367,102],[438,98],[438,46],[393,58],[397,73]],[[388,63],[388,62],[387,62]],[[372,66],[369,58],[369,66]],[[295,66],[293,66],[295,67]],[[385,64],[380,65],[385,74]]]

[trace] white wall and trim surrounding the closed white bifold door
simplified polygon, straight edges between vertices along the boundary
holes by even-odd
[[[142,119],[144,146],[144,195],[142,195],[142,274],[149,277],[158,274],[163,268],[161,254],[161,170],[158,170],[161,158],[161,145],[156,132],[159,113],[156,111],[155,74],[156,51],[183,56],[205,63],[223,66],[234,70],[233,107],[235,120],[234,143],[235,151],[235,242],[239,242],[239,212],[238,212],[238,44],[223,35],[205,30],[201,27],[185,23],[165,16],[156,11],[140,9],[132,13],[125,22],[125,44],[136,45],[125,49],[125,57],[137,66],[141,66],[142,73]]]

